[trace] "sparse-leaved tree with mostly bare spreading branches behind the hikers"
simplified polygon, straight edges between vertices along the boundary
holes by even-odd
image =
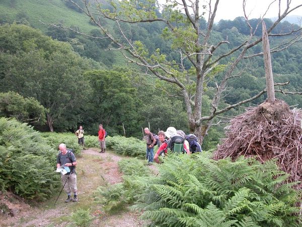
[[[281,12],[281,1],[282,0],[278,0],[278,18],[267,29],[267,34],[268,36],[291,35],[293,38],[288,41],[288,43],[274,46],[271,49],[271,52],[281,51],[301,39],[300,29],[292,29],[286,34],[272,34],[272,30],[283,18],[295,9],[302,7],[302,4],[292,7],[291,1],[285,0],[286,8]],[[81,8],[72,0],[70,0],[70,2]],[[156,0],[119,1],[116,3],[119,4],[119,6],[116,6],[110,1],[112,10],[102,9],[101,5],[98,3],[99,1],[95,1],[95,4],[91,4],[93,1],[85,0],[84,2],[85,8],[81,8],[81,10],[90,17],[91,21],[94,22],[104,34],[103,37],[93,38],[109,38],[115,47],[112,47],[111,49],[120,51],[129,63],[144,67],[146,69],[145,75],[156,76],[158,79],[166,81],[178,88],[185,103],[190,131],[199,137],[201,143],[206,132],[213,124],[215,116],[226,112],[231,108],[250,102],[266,92],[266,90],[263,90],[252,98],[242,100],[222,109],[218,108],[221,101],[220,99],[223,97],[223,92],[227,87],[227,81],[236,75],[238,64],[245,59],[263,55],[263,52],[249,55],[248,50],[262,42],[262,37],[257,37],[255,32],[258,26],[261,26],[265,14],[259,18],[259,23],[256,27],[252,27],[246,13],[245,0],[242,0],[242,6],[245,23],[250,29],[250,35],[235,48],[222,53],[220,50],[221,46],[229,43],[227,39],[220,40],[215,44],[211,44],[210,42],[216,11],[219,7],[219,0],[209,0],[205,6],[202,6],[205,2],[199,0],[167,0],[166,4],[162,5],[161,17],[155,13],[155,10],[158,10]],[[276,0],[272,0],[271,4],[273,2],[276,2]],[[271,4],[268,6],[267,10],[270,8]],[[201,30],[200,22],[201,18],[205,15],[206,10],[208,11],[207,28]],[[119,29],[118,35],[109,32],[110,29],[106,27],[107,23],[104,23],[105,19],[109,19],[116,23],[116,26]],[[132,40],[131,33],[123,29],[124,23],[135,24],[155,22],[161,22],[166,25],[164,33],[172,42],[174,51],[177,51],[179,54],[180,61],[178,63],[169,62],[165,58],[165,55],[161,54],[160,50],[157,50],[153,54],[146,54],[142,42]],[[73,31],[82,34],[79,31]],[[220,51],[217,51],[218,49]],[[206,79],[209,75],[213,74],[214,70],[217,70],[219,62],[222,59],[230,58],[231,55],[233,60],[223,69],[223,72],[220,72],[223,73],[223,77],[216,83],[216,91],[211,100],[212,107],[210,113],[208,116],[202,116],[202,96],[204,95]],[[188,61],[191,64],[191,70],[185,67],[184,61]],[[192,73],[192,69],[194,73]]]

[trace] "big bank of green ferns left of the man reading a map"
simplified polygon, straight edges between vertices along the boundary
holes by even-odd
[[[15,119],[0,118],[0,189],[44,200],[60,187],[56,151],[41,133]]]

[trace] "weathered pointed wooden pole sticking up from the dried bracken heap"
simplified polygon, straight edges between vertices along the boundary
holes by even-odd
[[[268,35],[267,35],[267,30],[264,21],[262,21],[262,44],[263,44],[263,58],[264,58],[264,68],[265,68],[267,100],[268,102],[273,103],[275,101],[273,70],[272,70],[272,61],[270,55]]]

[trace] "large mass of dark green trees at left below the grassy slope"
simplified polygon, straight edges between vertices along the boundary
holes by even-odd
[[[37,99],[49,109],[50,130],[77,127],[90,96],[83,72],[98,64],[25,25],[0,26],[0,45],[0,91]]]

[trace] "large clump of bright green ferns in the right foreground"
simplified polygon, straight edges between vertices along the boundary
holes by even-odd
[[[273,161],[207,155],[169,155],[159,177],[143,181],[134,206],[142,218],[156,226],[301,226],[298,192]]]

